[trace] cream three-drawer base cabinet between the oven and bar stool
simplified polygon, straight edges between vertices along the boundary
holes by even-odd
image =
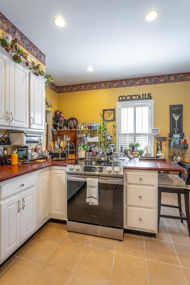
[[[157,233],[156,171],[124,171],[124,229]]]

